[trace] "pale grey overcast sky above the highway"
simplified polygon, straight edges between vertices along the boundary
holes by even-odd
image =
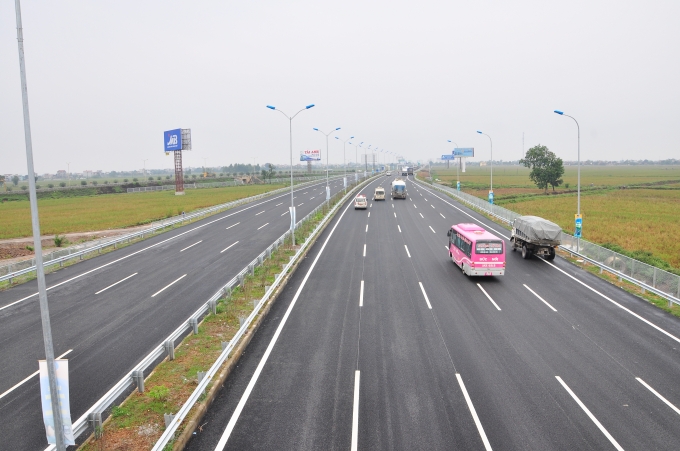
[[[36,171],[286,163],[312,130],[412,160],[680,157],[680,1],[22,2]],[[25,174],[14,2],[0,2],[0,173]],[[330,162],[342,144],[330,142]],[[360,149],[361,150],[361,149]],[[347,146],[353,161],[355,148]],[[254,160],[255,159],[255,160]]]

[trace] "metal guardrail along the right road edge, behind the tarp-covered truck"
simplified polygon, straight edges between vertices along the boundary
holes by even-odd
[[[414,179],[416,179],[414,177]],[[427,186],[431,186],[439,191],[443,191],[451,197],[457,198],[466,204],[483,211],[495,218],[508,224],[512,224],[515,218],[522,215],[498,205],[492,205],[484,199],[460,192],[441,184],[429,184],[416,179]],[[577,243],[578,241],[578,252]],[[600,268],[600,271],[607,271],[614,274],[619,279],[625,279],[639,286],[642,290],[650,291],[668,301],[671,304],[680,305],[680,276],[664,271],[656,266],[648,265],[634,258],[628,257],[618,252],[614,252],[583,238],[577,239],[574,236],[562,231],[562,245],[560,248],[582,258],[584,261],[592,263]]]

